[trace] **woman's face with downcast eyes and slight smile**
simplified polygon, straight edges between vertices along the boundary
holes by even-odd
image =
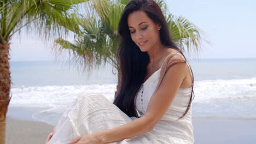
[[[159,29],[161,27],[150,19],[143,10],[129,14],[127,23],[131,39],[141,51],[149,51],[160,44]]]

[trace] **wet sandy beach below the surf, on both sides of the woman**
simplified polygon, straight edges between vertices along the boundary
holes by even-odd
[[[256,119],[193,118],[195,144],[256,144]],[[53,125],[7,118],[6,144],[44,143]]]

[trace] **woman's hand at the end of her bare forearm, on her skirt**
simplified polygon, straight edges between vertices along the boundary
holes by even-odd
[[[97,136],[96,134],[91,135],[82,135],[74,140],[68,142],[68,144],[103,144],[101,137]]]

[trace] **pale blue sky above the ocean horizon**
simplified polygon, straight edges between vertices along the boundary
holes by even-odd
[[[256,1],[167,0],[170,13],[199,27],[204,35],[198,53],[190,59],[256,58]],[[33,33],[33,32],[29,32]],[[53,43],[37,34],[14,35],[10,61],[56,61]]]

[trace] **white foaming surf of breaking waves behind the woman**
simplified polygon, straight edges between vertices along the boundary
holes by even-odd
[[[21,107],[25,109],[43,109],[34,113],[33,117],[39,121],[56,124],[62,113],[74,102],[79,93],[99,93],[109,101],[114,100],[116,85],[74,85],[74,86],[40,86],[40,87],[15,87],[11,88],[13,95],[9,107]],[[240,105],[245,110],[241,113],[254,117],[256,108],[256,77],[251,79],[233,80],[202,80],[195,81],[194,113],[198,116],[217,116],[219,107],[225,109],[225,113],[234,113],[231,105]],[[232,102],[232,103],[230,103]],[[225,103],[228,105],[226,106]],[[202,111],[206,108],[208,110]],[[197,106],[197,107],[196,107]],[[246,110],[249,106],[249,110]],[[200,108],[199,108],[200,107]],[[215,108],[214,108],[215,107]],[[241,108],[240,107],[240,108]],[[242,109],[243,109],[242,108]],[[233,116],[233,114],[230,116]],[[235,113],[234,113],[234,116]],[[243,115],[240,115],[246,117]],[[256,118],[256,116],[255,116]]]

